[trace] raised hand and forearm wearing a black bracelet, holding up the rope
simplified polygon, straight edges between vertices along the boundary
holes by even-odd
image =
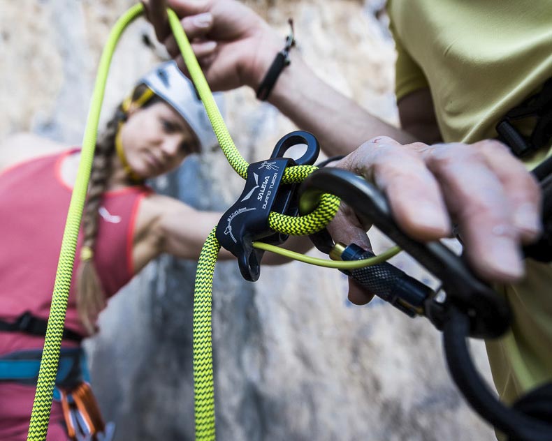
[[[159,9],[161,3],[164,2],[147,2],[151,10]],[[282,50],[281,35],[237,1],[168,0],[167,3],[182,17],[182,27],[212,89],[259,87],[276,54]],[[154,26],[158,35],[166,33],[162,20],[154,21]],[[215,46],[205,50],[208,43]],[[185,71],[174,39],[167,38],[165,44]],[[298,127],[313,133],[328,156],[348,154],[377,135],[393,137],[402,143],[414,142],[412,135],[381,121],[317,77],[293,48],[290,57],[291,64],[282,70],[268,101]]]

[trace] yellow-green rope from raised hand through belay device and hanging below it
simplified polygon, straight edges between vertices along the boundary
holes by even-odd
[[[182,58],[188,69],[191,80],[194,82],[198,94],[205,105],[217,140],[228,163],[242,178],[247,177],[247,161],[242,158],[232,140],[226,124],[219,112],[217,103],[212,96],[207,80],[199,66],[189,40],[180,25],[180,21],[172,10],[168,10],[168,21]],[[289,184],[303,181],[309,174],[317,170],[311,165],[288,167],[282,177],[282,182]],[[311,234],[324,228],[335,216],[340,200],[334,195],[323,195],[319,206],[307,216],[293,218],[279,213],[270,213],[268,224],[275,231],[285,234]],[[217,253],[220,245],[215,232],[210,234],[200,258],[196,274],[196,291],[194,294],[194,402],[196,412],[196,440],[215,439],[215,398],[212,373],[212,346],[211,346],[211,296],[212,277]],[[216,251],[215,251],[216,250]],[[211,267],[212,264],[212,267]]]

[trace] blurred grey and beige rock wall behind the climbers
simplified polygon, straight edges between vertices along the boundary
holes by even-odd
[[[397,122],[393,42],[383,0],[247,0],[282,33],[293,17],[317,75],[370,112]],[[130,0],[2,0],[0,136],[19,130],[80,144],[96,66]],[[163,56],[150,26],[126,31],[103,119]],[[246,89],[226,94],[226,121],[248,161],[293,124]],[[331,124],[331,121],[328,121]],[[224,185],[223,185],[224,184]],[[201,209],[222,210],[242,181],[220,151],[187,160],[153,184]],[[182,219],[182,222],[185,222]],[[377,251],[388,243],[372,235]],[[317,252],[312,252],[317,255]],[[395,264],[426,275],[408,257]],[[192,440],[194,262],[161,257],[110,301],[87,342],[94,390],[116,440]],[[492,440],[451,382],[440,335],[381,301],[356,307],[337,271],[292,263],[246,283],[217,264],[213,340],[219,440]],[[484,349],[472,346],[488,376]]]

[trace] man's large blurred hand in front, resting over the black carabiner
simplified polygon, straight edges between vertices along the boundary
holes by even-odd
[[[507,283],[523,276],[521,246],[542,232],[541,194],[535,179],[500,142],[401,145],[377,137],[336,167],[375,183],[397,224],[415,239],[449,237],[456,223],[470,266],[484,280]],[[358,220],[345,213],[337,219],[340,225],[343,217],[349,220],[343,234],[363,245]],[[369,300],[354,286],[349,299]]]

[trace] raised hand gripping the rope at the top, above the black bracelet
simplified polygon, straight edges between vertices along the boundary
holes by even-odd
[[[168,27],[166,7],[181,18],[203,73],[213,90],[247,85],[256,89],[284,45],[268,24],[235,0],[143,0],[157,38],[186,72]]]

